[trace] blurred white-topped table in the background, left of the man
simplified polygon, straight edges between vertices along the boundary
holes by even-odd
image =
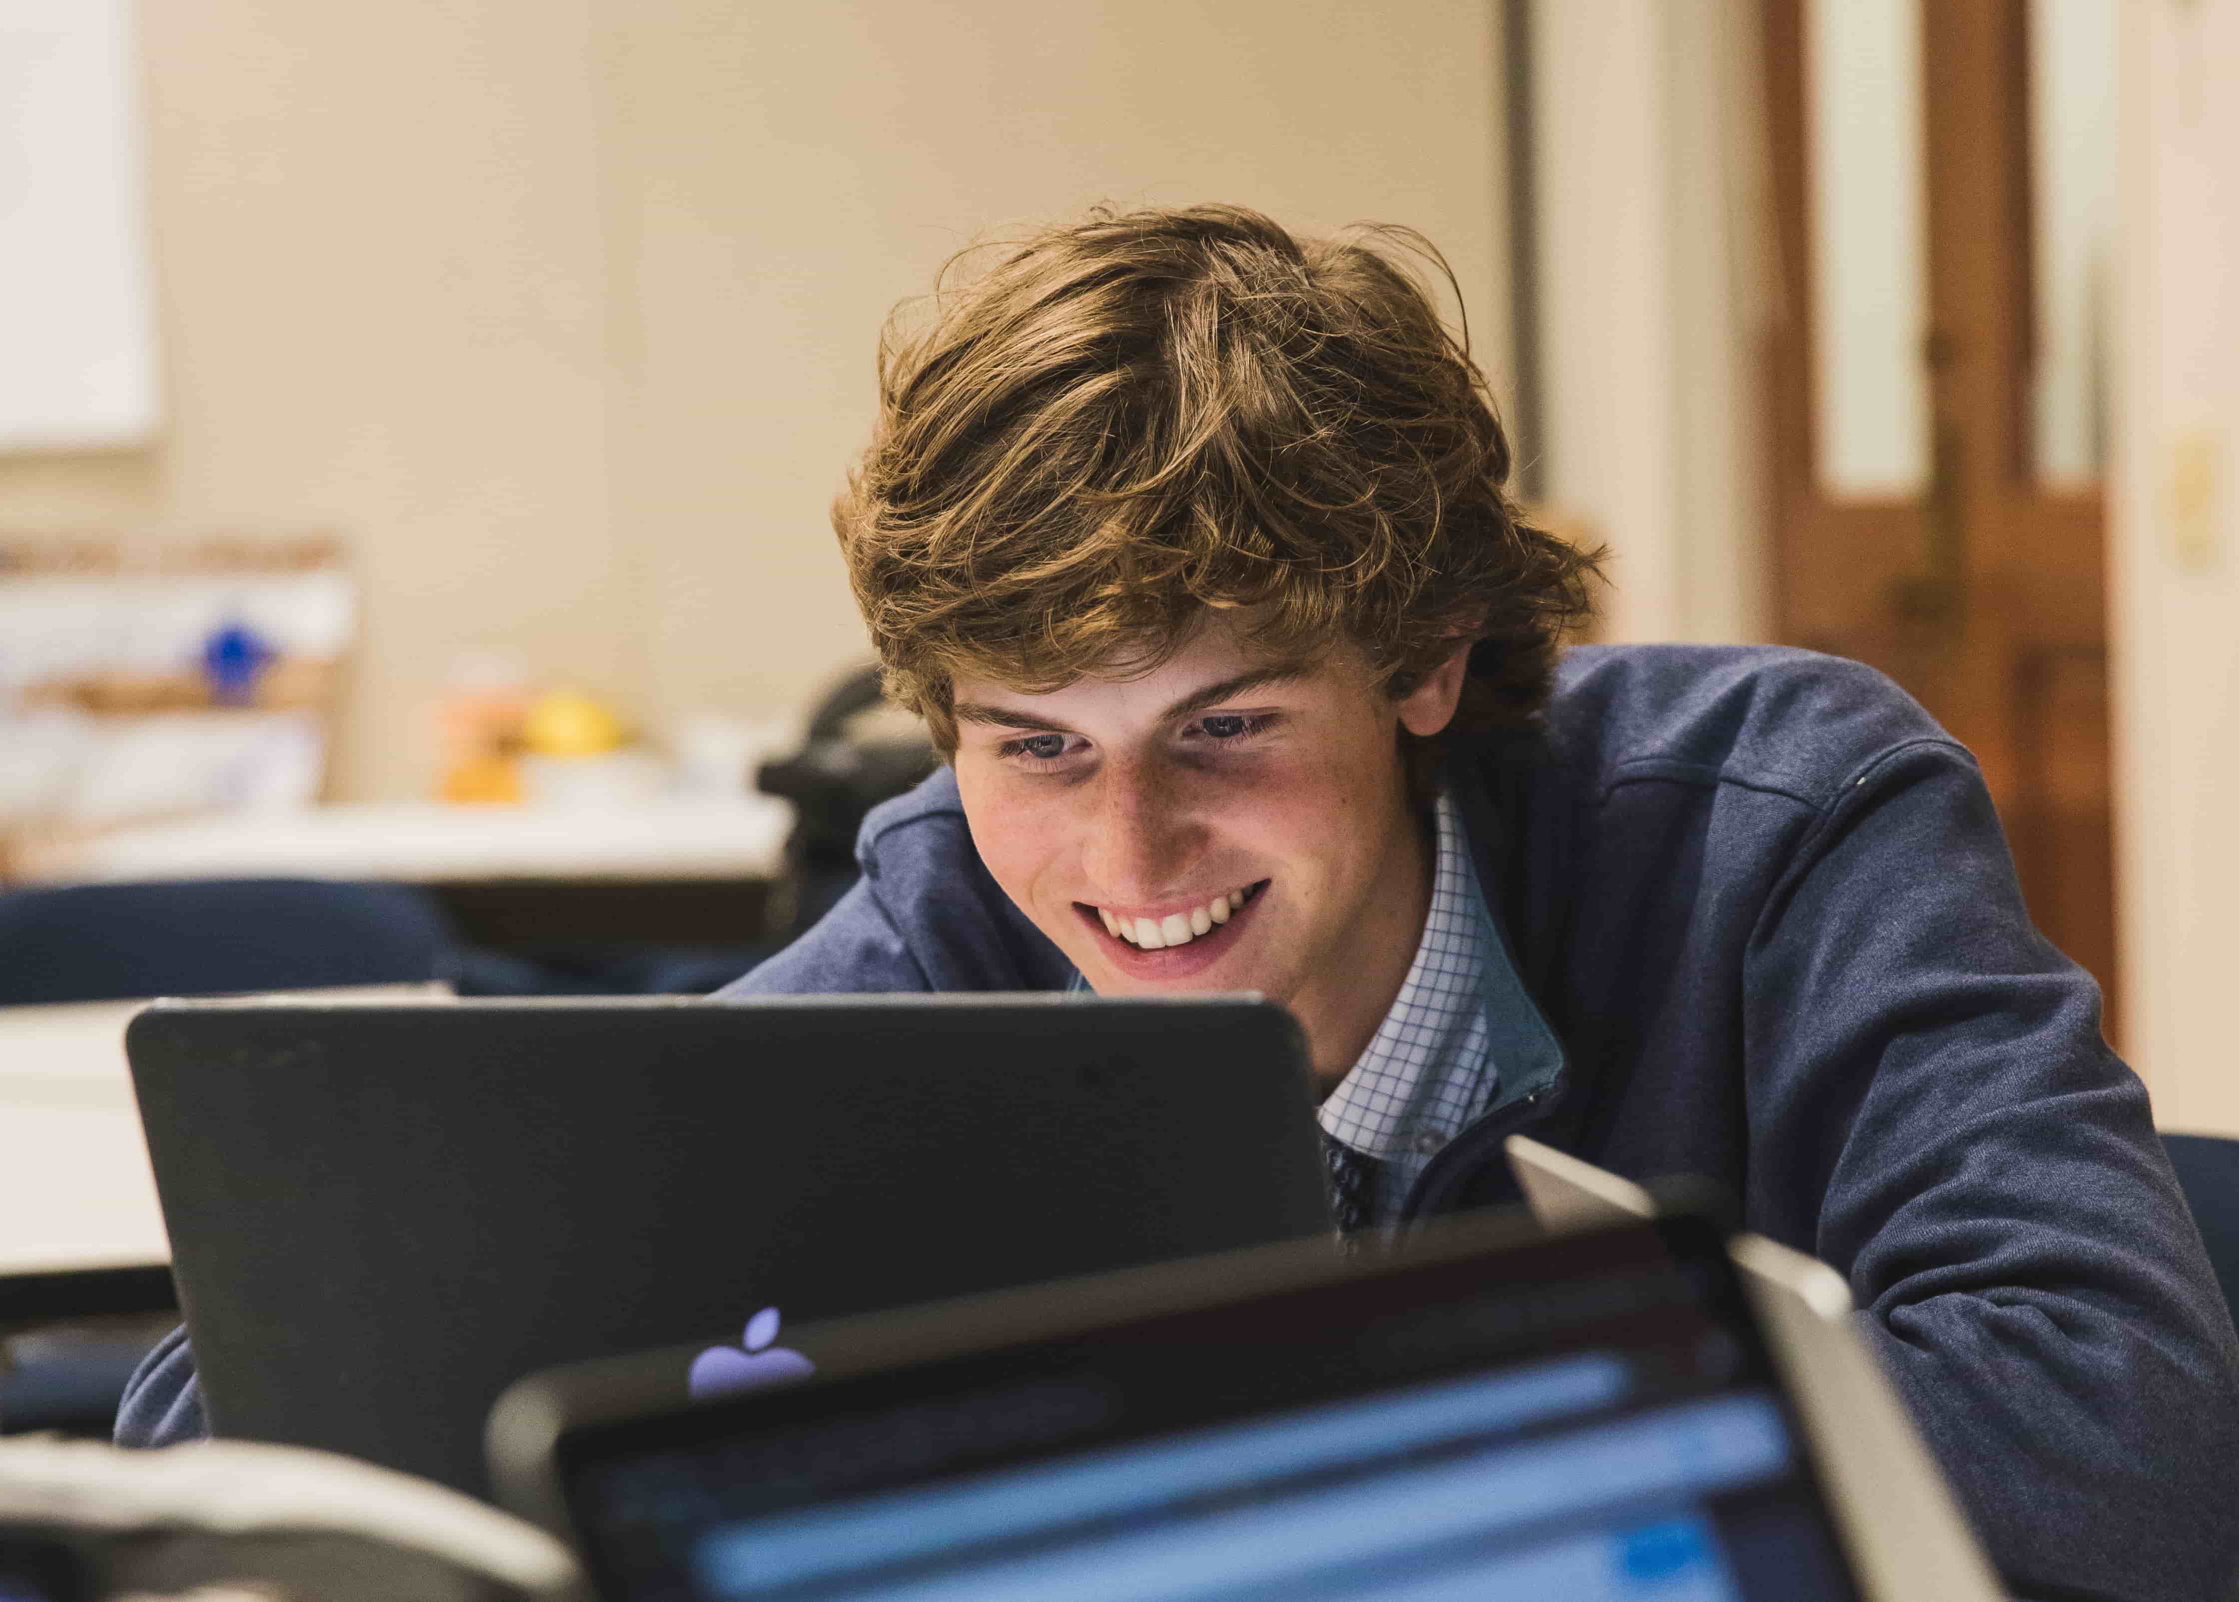
[[[766,934],[793,804],[360,802],[228,813],[27,849],[22,883],[390,878],[425,885],[477,946],[748,946]]]

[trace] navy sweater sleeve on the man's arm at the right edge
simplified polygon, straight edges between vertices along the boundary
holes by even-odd
[[[2223,1598],[2239,1342],[2089,975],[2029,921],[1973,757],[1885,751],[1749,950],[1751,1212],[1849,1277],[2022,1595]]]

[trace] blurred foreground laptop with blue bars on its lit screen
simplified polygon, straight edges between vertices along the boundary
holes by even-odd
[[[1858,1595],[1706,1217],[1428,1226],[804,1331],[815,1378],[490,1421],[607,1602]]]

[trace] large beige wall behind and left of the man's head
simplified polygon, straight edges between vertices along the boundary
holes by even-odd
[[[1093,199],[1406,222],[1507,381],[1491,0],[146,0],[170,423],[0,459],[0,527],[331,527],[343,789],[430,780],[461,648],[649,724],[862,654],[826,504],[873,341]]]

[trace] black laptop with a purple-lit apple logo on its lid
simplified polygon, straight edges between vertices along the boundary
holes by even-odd
[[[125,1035],[222,1436],[481,1492],[522,1373],[1319,1237],[1305,1042],[1256,999],[163,1002]]]

